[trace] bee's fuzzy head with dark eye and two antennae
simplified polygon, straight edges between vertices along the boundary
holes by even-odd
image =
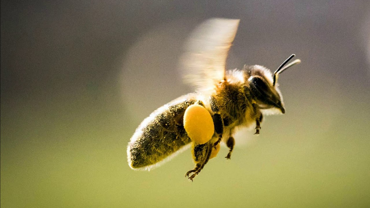
[[[297,59],[285,66],[285,64],[294,56],[295,55],[292,54],[292,56],[284,61],[284,63],[275,71],[273,76],[270,70],[263,66],[255,65],[249,67],[247,71],[249,88],[252,93],[253,100],[255,100],[260,109],[277,108],[281,113],[285,113],[282,96],[277,85],[277,78],[279,73],[282,71],[286,70],[293,64],[300,63],[300,60]]]

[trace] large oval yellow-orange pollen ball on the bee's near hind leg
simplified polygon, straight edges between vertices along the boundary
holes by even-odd
[[[211,140],[215,126],[211,114],[201,105],[190,105],[185,110],[184,128],[192,141],[205,144]]]

